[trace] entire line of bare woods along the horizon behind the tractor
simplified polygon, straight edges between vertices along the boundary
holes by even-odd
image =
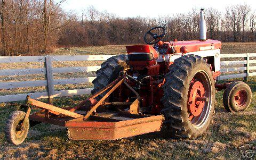
[[[55,1],[54,1],[55,2]],[[143,44],[151,27],[166,28],[166,41],[199,37],[199,9],[158,18],[119,18],[90,6],[66,13],[60,1],[0,0],[2,56],[53,52],[56,47]],[[222,42],[256,41],[256,12],[250,6],[227,7],[224,13],[206,9],[207,38]]]

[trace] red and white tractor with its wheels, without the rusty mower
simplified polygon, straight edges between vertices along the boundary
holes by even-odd
[[[203,10],[201,11],[201,40],[162,42],[163,27],[150,29],[145,35],[148,45],[127,46],[127,55],[109,58],[97,71],[92,94],[126,74],[126,82],[138,92],[120,87],[109,97],[110,101],[134,102],[140,106],[136,114],[163,114],[170,135],[180,138],[201,136],[214,114],[215,92],[228,86],[215,84],[220,75],[220,48],[218,40],[206,39]],[[161,30],[159,35],[155,30]],[[159,31],[158,31],[159,32]],[[152,41],[148,41],[151,36]],[[153,45],[153,46],[150,46]],[[224,105],[228,111],[243,111],[251,100],[250,87],[243,82],[228,86]],[[112,108],[122,112],[130,108]],[[130,111],[131,112],[131,111]]]

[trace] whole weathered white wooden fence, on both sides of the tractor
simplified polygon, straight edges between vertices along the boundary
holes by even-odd
[[[1,82],[0,89],[12,89],[12,88],[26,88],[26,87],[38,87],[45,86],[45,92],[33,92],[27,94],[17,95],[4,95],[0,96],[0,103],[25,100],[29,95],[34,99],[73,96],[90,94],[92,88],[74,89],[74,90],[60,90],[55,91],[54,85],[67,85],[67,84],[79,84],[85,82],[92,82],[95,77],[87,78],[69,78],[69,79],[54,79],[53,73],[74,73],[74,72],[94,72],[97,71],[100,66],[76,66],[65,68],[53,68],[52,61],[105,61],[107,58],[114,55],[74,55],[74,56],[17,56],[17,57],[0,57],[0,64],[2,63],[17,63],[17,62],[44,62],[44,69],[41,68],[29,68],[29,69],[3,69],[0,70],[1,76],[16,76],[16,75],[29,75],[29,74],[45,74],[45,80],[35,81],[17,81],[17,82]],[[233,79],[233,78],[247,78],[249,76],[256,75],[256,72],[250,73],[250,70],[256,70],[256,60],[250,60],[250,57],[256,57],[256,54],[221,54],[222,58],[234,58],[241,57],[239,61],[222,61],[221,72],[228,73],[227,75],[221,75],[218,80]],[[235,67],[234,65],[243,65]],[[232,73],[232,72],[243,73]],[[230,74],[231,73],[231,74]]]

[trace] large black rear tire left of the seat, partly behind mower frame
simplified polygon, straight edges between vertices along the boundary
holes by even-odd
[[[107,61],[101,64],[101,68],[96,72],[97,78],[95,78],[92,83],[94,89],[91,91],[91,94],[95,94],[100,91],[102,88],[109,85],[118,78],[119,72],[124,70],[124,65],[126,65],[127,55],[118,55],[108,58]],[[104,95],[101,94],[97,99],[102,98]]]

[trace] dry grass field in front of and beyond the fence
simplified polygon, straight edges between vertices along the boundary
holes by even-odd
[[[119,54],[125,53],[125,46],[99,46],[73,48],[71,54]],[[221,53],[256,53],[256,43],[224,43]],[[52,55],[70,54],[69,50],[58,50]],[[79,66],[98,65],[101,62],[79,62]],[[0,64],[1,69],[24,68],[34,64]],[[76,62],[65,65],[78,65]],[[54,66],[65,66],[54,63]],[[38,67],[36,64],[34,67]],[[94,73],[90,73],[94,74]],[[85,77],[79,74],[56,74],[55,78]],[[3,79],[4,77],[0,77]],[[33,77],[13,77],[8,81],[40,80],[41,75]],[[237,79],[238,80],[238,79]],[[0,159],[242,159],[239,147],[252,144],[256,147],[256,78],[249,79],[253,91],[251,106],[245,112],[228,113],[222,105],[223,91],[217,93],[215,115],[209,131],[202,137],[189,139],[171,139],[166,132],[148,133],[128,139],[115,141],[69,140],[65,128],[50,124],[38,124],[30,128],[28,137],[20,146],[7,144],[4,139],[4,125],[7,117],[22,102],[0,104]],[[55,86],[56,90],[84,88],[82,85]],[[43,91],[44,87],[28,89],[0,90],[0,95],[18,94],[30,91]],[[87,95],[55,98],[54,105],[74,106]],[[42,100],[45,102],[45,100]],[[256,155],[255,157],[256,158]]]

